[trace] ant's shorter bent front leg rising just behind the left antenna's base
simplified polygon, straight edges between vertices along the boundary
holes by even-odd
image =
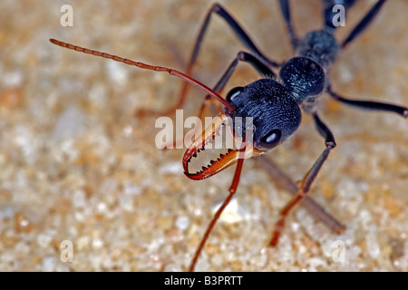
[[[277,78],[276,74],[272,72],[272,70],[266,64],[262,63],[259,59],[257,59],[257,56],[251,53],[240,51],[235,57],[235,59],[232,61],[232,63],[229,64],[227,71],[221,76],[219,82],[217,82],[217,84],[214,86],[213,88],[214,92],[220,92],[222,91],[222,89],[224,89],[232,73],[234,73],[235,69],[237,68],[238,62],[245,62],[251,64],[257,70],[257,72],[264,77],[269,77],[273,79]],[[206,95],[204,102],[202,102],[201,107],[199,109],[199,119],[201,121],[203,121],[204,114],[212,102],[215,102],[214,98],[212,98],[209,94]],[[194,134],[199,129],[199,126],[195,126],[194,128],[195,130],[189,131],[189,136],[186,136],[186,138],[191,138],[192,136],[194,136]],[[165,146],[165,148],[177,148],[176,144],[179,143],[180,140],[176,140],[172,144],[173,147]]]

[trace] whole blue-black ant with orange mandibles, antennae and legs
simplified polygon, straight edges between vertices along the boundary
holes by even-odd
[[[345,98],[332,89],[328,77],[330,67],[335,62],[337,54],[364,32],[385,2],[386,0],[378,0],[368,13],[364,15],[363,19],[355,25],[355,28],[348,34],[345,40],[338,43],[334,37],[336,26],[332,21],[334,16],[332,8],[335,4],[344,5],[345,8],[351,7],[355,4],[355,0],[323,0],[323,14],[325,19],[323,28],[307,33],[304,38],[298,38],[296,36],[296,31],[291,21],[288,0],[279,0],[281,13],[287,26],[287,33],[289,34],[292,48],[295,51],[295,56],[284,63],[277,63],[269,59],[264,53],[261,53],[257,45],[251,40],[241,25],[238,24],[225,8],[217,3],[211,6],[204,23],[201,25],[198,38],[187,65],[186,73],[181,73],[177,70],[162,66],[133,62],[110,53],[100,53],[54,39],[50,39],[50,41],[56,45],[78,52],[102,56],[117,62],[135,65],[141,69],[170,73],[171,75],[183,79],[186,82],[184,82],[182,87],[180,100],[176,108],[180,108],[184,104],[189,87],[188,84],[198,86],[201,90],[208,93],[199,112],[199,117],[201,118],[204,111],[209,107],[209,104],[214,100],[219,101],[225,107],[219,114],[220,118],[215,119],[216,121],[191,143],[182,160],[184,173],[189,179],[207,179],[219,171],[228,168],[228,166],[238,163],[229,188],[228,198],[224,200],[211,219],[209,227],[207,227],[199,243],[199,247],[191,260],[189,271],[193,271],[212,228],[237,191],[244,160],[248,157],[259,156],[277,147],[277,145],[283,143],[293,135],[300,125],[302,109],[312,115],[318,133],[325,139],[325,150],[320,154],[311,169],[306,172],[306,175],[298,186],[295,197],[292,198],[281,211],[280,218],[277,221],[275,231],[270,240],[271,246],[277,245],[288,213],[296,204],[306,198],[306,194],[309,192],[319,170],[325,163],[330,151],[336,146],[333,133],[325,125],[325,122],[320,119],[317,113],[316,102],[322,92],[327,92],[335,101],[357,108],[389,111],[397,113],[403,118],[408,117],[408,108],[403,106],[385,102],[359,101]],[[193,64],[196,63],[199,49],[208,29],[212,14],[218,14],[228,24],[234,34],[237,35],[238,40],[249,52],[239,52],[232,63],[229,64],[227,71],[219,79],[219,82],[213,89],[210,89],[189,75],[192,72]],[[219,92],[225,87],[239,62],[249,63],[263,78],[256,82],[251,82],[245,87],[233,88],[224,99],[219,95]],[[277,74],[272,71],[272,68],[280,68],[278,77]],[[238,133],[233,129],[235,125],[234,120],[236,120],[235,118],[237,117],[249,117],[252,120],[252,124],[248,126],[248,124],[243,121],[240,127],[242,131]],[[229,120],[232,120],[232,122]],[[198,155],[206,150],[206,145],[216,138],[220,128],[225,125],[227,125],[227,128],[231,131],[234,139],[237,140],[238,143],[240,141],[241,146],[232,150],[229,149],[227,153],[220,155],[217,160],[209,160],[209,163],[201,169],[191,169],[191,162],[197,160]],[[250,142],[248,141],[249,134],[251,134]]]

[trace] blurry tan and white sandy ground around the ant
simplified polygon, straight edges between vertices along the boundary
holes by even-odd
[[[48,39],[183,70],[211,3],[1,2],[0,271],[186,270],[227,196],[233,169],[187,179],[184,151],[158,150],[155,118],[134,117],[138,109],[169,108],[179,80],[64,50]],[[220,3],[271,58],[290,57],[277,1]],[[338,39],[372,3],[355,5]],[[60,24],[65,4],[73,7],[72,27]],[[292,8],[299,35],[319,27],[320,1],[296,1]],[[408,105],[406,11],[407,1],[389,1],[341,53],[331,72],[337,92]],[[240,49],[214,17],[194,75],[213,85]],[[241,65],[228,88],[256,79]],[[197,114],[202,96],[190,91],[185,117]],[[296,208],[279,245],[267,247],[290,196],[248,160],[197,270],[408,270],[407,121],[347,108],[326,95],[320,107],[337,148],[312,196],[346,225],[345,233],[336,235]],[[268,156],[299,180],[323,149],[304,116],[296,135]]]

